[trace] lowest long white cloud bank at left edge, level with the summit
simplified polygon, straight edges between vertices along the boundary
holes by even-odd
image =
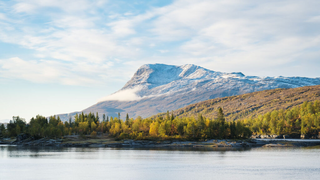
[[[96,86],[100,85],[101,81],[94,77],[99,77],[97,73],[102,73],[107,69],[108,67],[100,67],[99,65],[75,67],[73,64],[69,64],[69,66],[65,66],[61,62],[49,60],[26,61],[19,57],[0,59],[0,77],[23,79],[36,83]],[[76,73],[77,71],[81,73]],[[92,74],[94,74],[93,77]]]

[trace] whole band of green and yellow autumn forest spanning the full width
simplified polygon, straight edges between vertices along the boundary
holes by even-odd
[[[62,122],[59,116],[49,120],[41,115],[30,119],[27,124],[19,116],[13,117],[7,128],[0,126],[3,136],[16,136],[29,133],[33,136],[60,138],[65,135],[90,135],[95,137],[102,133],[121,140],[167,140],[188,139],[205,140],[213,138],[237,139],[247,138],[251,134],[319,134],[320,102],[304,102],[300,107],[287,110],[273,110],[249,119],[226,122],[222,108],[217,117],[209,119],[202,114],[194,117],[174,117],[173,113],[149,118],[137,117],[125,119],[108,117],[100,119],[98,113],[76,114],[74,119]]]

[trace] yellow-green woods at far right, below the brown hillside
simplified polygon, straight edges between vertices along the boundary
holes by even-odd
[[[300,107],[273,110],[256,118],[243,119],[253,134],[313,134],[320,130],[320,101],[304,102]]]

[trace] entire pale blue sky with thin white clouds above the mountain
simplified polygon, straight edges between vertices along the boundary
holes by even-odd
[[[318,0],[0,0],[0,122],[83,110],[143,64],[320,77]]]

